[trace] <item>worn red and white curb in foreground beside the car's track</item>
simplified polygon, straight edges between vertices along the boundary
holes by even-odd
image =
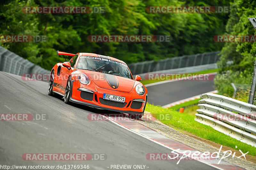
[[[135,122],[133,119],[126,118],[123,121],[116,121],[115,117],[107,117],[105,115],[103,115],[103,116],[106,119],[109,119],[109,121],[115,123],[116,125],[124,128],[124,129],[127,129],[141,137],[144,137],[154,143],[160,144],[160,145],[164,146],[165,148],[168,148],[172,151],[180,149],[178,151],[175,151],[176,153],[183,154],[183,152],[185,152],[185,151],[191,151],[191,153],[200,152],[200,151],[197,151],[196,149],[191,148],[185,144],[177,142],[169,137],[166,137],[166,136],[156,132],[155,130],[148,128],[147,126],[144,126],[138,122]],[[200,152],[200,154],[202,154],[202,153],[203,152]],[[189,157],[191,159],[193,159],[191,156],[189,156]],[[146,159],[146,155],[145,155],[145,159]],[[180,160],[180,161],[182,161],[182,160]],[[216,169],[220,169],[220,170],[245,170],[244,168],[232,165],[228,162],[225,162],[224,160],[220,161],[220,159],[218,159],[218,158],[214,158],[212,160],[197,160],[197,161],[202,162],[206,165],[212,166]],[[220,164],[218,164],[219,161],[220,161]]]

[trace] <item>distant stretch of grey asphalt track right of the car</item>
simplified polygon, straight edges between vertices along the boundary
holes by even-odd
[[[180,80],[153,85],[148,89],[148,103],[164,106],[169,103],[187,99],[214,89],[213,80]]]

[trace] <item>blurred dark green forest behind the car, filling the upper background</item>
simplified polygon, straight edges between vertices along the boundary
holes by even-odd
[[[110,55],[126,63],[217,51],[228,14],[147,13],[147,6],[229,6],[229,0],[2,0],[0,35],[47,35],[46,42],[0,42],[46,69],[63,56],[56,50]],[[25,6],[104,6],[106,13],[26,14]],[[236,16],[235,16],[236,17]],[[245,16],[246,20],[246,16]],[[231,20],[229,21],[230,24]],[[236,21],[234,21],[236,22]],[[245,21],[244,21],[245,22]],[[247,22],[247,21],[246,21]],[[89,42],[89,35],[171,35],[171,42]]]

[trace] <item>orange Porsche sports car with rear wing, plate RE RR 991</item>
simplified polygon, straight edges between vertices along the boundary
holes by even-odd
[[[93,53],[70,54],[68,62],[52,68],[48,95],[64,102],[128,113],[141,118],[147,103],[147,88],[140,76],[132,77],[127,64],[113,57]]]

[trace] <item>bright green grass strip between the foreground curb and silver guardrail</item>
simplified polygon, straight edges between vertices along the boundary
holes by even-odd
[[[249,155],[256,155],[255,147],[242,143],[232,137],[220,133],[217,130],[212,129],[210,126],[196,122],[194,120],[196,117],[195,115],[180,113],[173,110],[173,108],[167,109],[160,106],[154,106],[151,104],[147,104],[146,111],[151,112],[151,114],[156,119],[160,120],[162,123],[182,133],[184,133],[184,131],[187,131],[196,135],[197,137],[211,140],[218,144],[222,144],[223,146],[231,147],[234,150],[240,149],[243,152],[249,151]]]

